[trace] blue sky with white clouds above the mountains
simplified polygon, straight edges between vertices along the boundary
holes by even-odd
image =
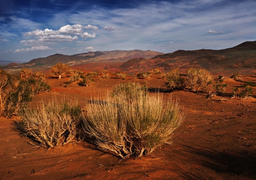
[[[256,41],[256,0],[1,0],[0,60],[225,49]]]

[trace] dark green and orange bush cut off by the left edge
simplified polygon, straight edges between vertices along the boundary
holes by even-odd
[[[17,114],[35,94],[49,90],[49,84],[34,76],[21,79],[0,70],[0,115],[8,118]]]

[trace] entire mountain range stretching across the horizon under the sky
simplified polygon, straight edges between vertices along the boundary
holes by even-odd
[[[256,73],[256,41],[247,41],[228,49],[178,50],[164,54],[151,50],[96,51],[75,55],[55,54],[36,58],[23,64],[9,64],[3,69],[49,70],[52,65],[62,62],[73,69],[84,71],[110,70],[113,72],[138,73],[158,67],[163,72],[178,67],[184,71],[190,67],[204,68],[215,73],[241,72]]]

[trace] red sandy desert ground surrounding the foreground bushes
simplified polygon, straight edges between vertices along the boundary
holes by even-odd
[[[157,148],[139,160],[120,160],[113,154],[97,150],[87,142],[49,149],[31,144],[21,136],[13,122],[18,117],[0,117],[0,180],[247,180],[256,179],[256,99],[230,98],[231,88],[241,83],[256,82],[255,76],[241,81],[225,79],[225,96],[207,99],[204,93],[166,90],[161,75],[137,79],[147,84],[151,93],[160,90],[163,96],[180,99],[186,119],[177,129],[172,145]],[[81,105],[94,96],[104,94],[114,84],[135,81],[111,78],[96,79],[88,87],[68,84],[67,77],[47,79],[48,93],[38,94],[31,105],[41,99],[78,99]],[[254,87],[254,97],[256,88]],[[32,142],[36,144],[36,142]]]

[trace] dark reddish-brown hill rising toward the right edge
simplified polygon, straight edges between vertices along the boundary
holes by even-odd
[[[175,67],[186,70],[190,67],[207,70],[230,71],[241,68],[256,73],[256,41],[248,41],[228,49],[178,50],[173,53],[156,55],[150,59],[134,58],[125,63],[107,67],[109,70],[137,73],[158,67],[170,71]]]

